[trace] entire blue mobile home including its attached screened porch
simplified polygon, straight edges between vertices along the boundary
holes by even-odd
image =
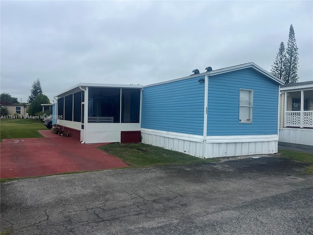
[[[283,84],[254,63],[144,87],[80,83],[56,95],[53,115],[83,143],[142,141],[205,158],[277,153]]]

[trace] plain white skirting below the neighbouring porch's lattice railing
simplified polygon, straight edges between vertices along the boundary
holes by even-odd
[[[279,141],[313,145],[313,129],[284,127],[279,130]]]

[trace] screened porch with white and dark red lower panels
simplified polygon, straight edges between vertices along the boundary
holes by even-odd
[[[140,85],[80,83],[57,94],[53,116],[83,143],[140,142]]]

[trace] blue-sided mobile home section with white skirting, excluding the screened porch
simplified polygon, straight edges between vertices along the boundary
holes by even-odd
[[[247,63],[144,86],[142,142],[205,158],[277,153],[283,84]]]

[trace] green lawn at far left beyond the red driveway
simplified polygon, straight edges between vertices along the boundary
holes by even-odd
[[[40,119],[0,119],[0,140],[41,138],[38,130],[47,130]]]

